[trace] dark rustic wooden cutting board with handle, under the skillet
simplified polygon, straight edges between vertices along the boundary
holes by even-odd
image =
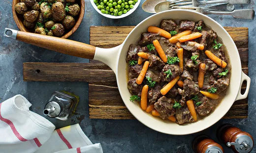
[[[101,48],[120,45],[134,26],[91,26],[90,44]],[[248,28],[224,27],[234,40],[248,75]],[[24,63],[24,81],[89,82],[89,116],[91,119],[133,119],[118,91],[113,71],[104,63]],[[246,84],[243,84],[242,92]],[[234,102],[224,118],[247,118],[248,99]]]

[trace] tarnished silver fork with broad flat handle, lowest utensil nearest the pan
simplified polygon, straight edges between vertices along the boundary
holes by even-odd
[[[255,11],[253,9],[240,9],[240,10],[233,10],[231,12],[222,12],[222,11],[210,11],[210,10],[204,9],[203,7],[194,7],[194,6],[171,7],[171,9],[175,9],[175,8],[195,10],[203,14],[232,15],[234,18],[240,18],[240,19],[254,19],[254,15],[255,15]]]

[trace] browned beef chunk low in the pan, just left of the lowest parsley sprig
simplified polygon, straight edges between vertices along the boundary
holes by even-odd
[[[165,96],[162,96],[158,102],[154,104],[155,109],[159,112],[160,117],[162,119],[166,119],[169,116],[172,116],[175,114],[175,109],[172,108],[173,104],[171,103],[170,98],[166,98]]]

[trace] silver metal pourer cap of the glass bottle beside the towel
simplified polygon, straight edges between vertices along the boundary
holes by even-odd
[[[47,115],[49,117],[55,118],[59,116],[61,113],[61,106],[59,105],[58,102],[48,102],[46,103],[43,114]]]

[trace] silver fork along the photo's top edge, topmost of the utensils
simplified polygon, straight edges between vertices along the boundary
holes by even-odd
[[[250,0],[203,0],[203,1],[197,1],[197,0],[168,0],[170,1],[170,7],[172,6],[199,6],[199,5],[206,5],[206,4],[213,4],[213,3],[222,3],[222,2],[228,2],[231,4],[247,4],[250,3]]]

